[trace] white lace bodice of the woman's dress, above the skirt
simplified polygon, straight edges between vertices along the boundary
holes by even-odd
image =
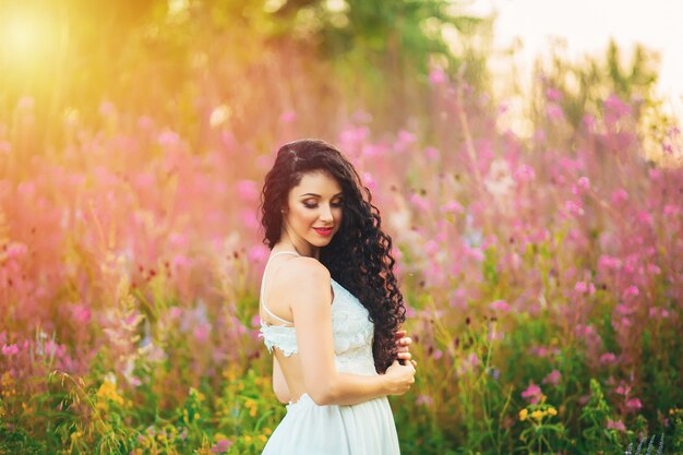
[[[332,289],[334,291],[332,335],[337,370],[359,374],[376,374],[372,357],[374,325],[368,319],[368,309],[334,279],[332,280]],[[267,307],[265,308],[267,309]],[[273,325],[262,321],[260,336],[269,352],[273,352],[273,348],[277,348],[286,357],[289,357],[299,350],[296,326]]]

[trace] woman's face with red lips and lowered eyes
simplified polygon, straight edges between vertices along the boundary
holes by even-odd
[[[342,226],[342,187],[329,173],[304,173],[289,191],[283,214],[284,229],[292,244],[309,253],[327,246]]]

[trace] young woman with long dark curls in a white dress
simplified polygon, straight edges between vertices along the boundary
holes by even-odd
[[[370,191],[339,151],[302,140],[280,147],[261,200],[261,333],[289,400],[263,453],[398,454],[386,396],[408,391],[416,364],[396,346],[405,308]]]

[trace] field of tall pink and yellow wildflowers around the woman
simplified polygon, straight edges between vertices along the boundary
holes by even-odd
[[[312,133],[394,240],[418,361],[391,399],[402,453],[616,454],[655,434],[683,453],[680,129],[644,128],[615,92],[573,121],[548,80],[520,136],[486,92],[428,79],[396,129],[278,100],[245,135],[220,103],[194,129],[127,98],[50,136],[19,97],[0,117],[0,454],[261,452],[285,407],[257,337],[259,196],[277,147]]]

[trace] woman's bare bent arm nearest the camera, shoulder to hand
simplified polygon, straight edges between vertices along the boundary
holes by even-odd
[[[334,362],[329,272],[316,260],[298,258],[283,271],[285,294],[297,325],[297,344],[305,390],[317,405],[354,405],[385,395],[402,395],[415,382],[415,368],[392,364],[385,374],[338,372]]]

